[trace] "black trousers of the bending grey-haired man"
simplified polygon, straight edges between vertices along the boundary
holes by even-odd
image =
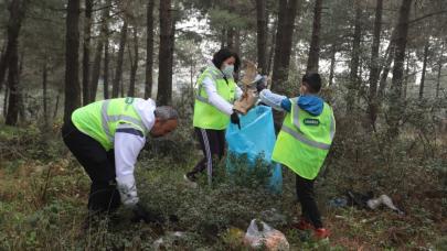
[[[92,179],[88,197],[91,212],[109,212],[120,205],[115,182],[114,150],[106,151],[96,140],[76,129],[72,121],[62,127],[64,143]]]

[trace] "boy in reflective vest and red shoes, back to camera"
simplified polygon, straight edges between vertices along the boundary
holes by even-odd
[[[320,75],[310,73],[302,77],[299,97],[290,99],[268,89],[259,94],[262,102],[287,112],[272,159],[296,174],[301,219],[295,227],[300,230],[311,229],[319,239],[329,237],[329,230],[321,221],[313,183],[336,133],[332,108],[318,96],[320,89]]]

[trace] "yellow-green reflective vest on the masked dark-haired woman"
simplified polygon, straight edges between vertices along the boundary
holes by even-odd
[[[236,83],[233,78],[228,78],[226,81],[224,75],[214,65],[209,66],[198,79],[198,89],[194,102],[194,117],[193,126],[202,129],[223,130],[230,123],[230,117],[217,108],[212,106],[207,100],[207,94],[203,88],[202,81],[209,77],[213,80],[217,94],[226,101],[233,103]]]

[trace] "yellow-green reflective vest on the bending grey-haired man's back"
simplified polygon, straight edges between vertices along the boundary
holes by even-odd
[[[137,99],[139,98],[116,98],[89,103],[76,109],[72,121],[79,131],[109,151],[114,148],[115,131],[120,123],[141,131],[145,137],[148,134],[149,131],[134,107]]]

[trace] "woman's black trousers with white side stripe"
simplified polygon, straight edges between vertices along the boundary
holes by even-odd
[[[194,131],[204,156],[194,168],[188,173],[189,176],[201,173],[206,167],[212,171],[213,166],[216,164],[213,163],[213,156],[217,156],[217,160],[221,160],[225,154],[225,130],[194,128]]]

